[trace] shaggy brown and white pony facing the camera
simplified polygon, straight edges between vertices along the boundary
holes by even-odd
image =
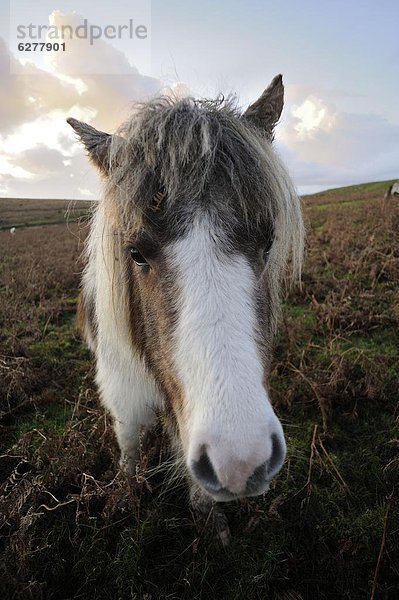
[[[286,456],[268,375],[300,201],[274,149],[282,76],[234,97],[159,96],[115,134],[69,118],[103,178],[79,300],[120,466],[164,415],[191,498],[264,493]]]

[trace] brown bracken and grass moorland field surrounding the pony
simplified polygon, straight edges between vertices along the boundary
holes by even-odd
[[[303,288],[284,299],[271,377],[288,459],[266,496],[226,505],[226,549],[158,468],[162,436],[143,441],[136,480],[117,469],[76,330],[84,225],[0,232],[2,599],[399,597],[399,203],[383,201],[388,185],[304,199]]]

